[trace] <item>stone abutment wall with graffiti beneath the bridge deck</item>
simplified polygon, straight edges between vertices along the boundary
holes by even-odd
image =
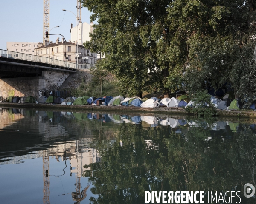
[[[41,77],[0,79],[0,96],[44,96],[45,92],[58,90],[69,76],[68,72],[42,71]]]

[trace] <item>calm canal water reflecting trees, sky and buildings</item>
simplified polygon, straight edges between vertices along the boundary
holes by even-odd
[[[231,203],[233,191],[232,203],[253,204],[244,185],[256,186],[255,124],[0,108],[0,203],[143,204],[145,191],[204,191],[204,203],[217,192]]]

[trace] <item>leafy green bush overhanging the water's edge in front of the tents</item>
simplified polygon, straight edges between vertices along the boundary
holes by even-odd
[[[199,116],[214,116],[217,113],[217,109],[211,102],[211,96],[207,93],[207,90],[195,91],[190,95],[191,101],[194,102],[193,107],[186,107],[185,110],[189,113],[193,113]]]

